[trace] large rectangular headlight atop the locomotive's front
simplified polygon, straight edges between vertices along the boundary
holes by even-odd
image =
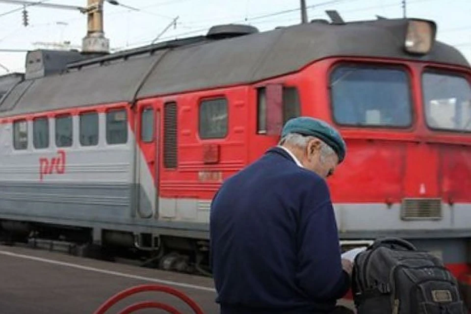
[[[435,41],[437,25],[433,21],[409,20],[404,48],[409,53],[427,54]]]

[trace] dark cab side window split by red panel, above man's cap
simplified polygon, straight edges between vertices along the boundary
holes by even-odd
[[[283,124],[301,115],[299,92],[296,87],[283,87]],[[257,89],[257,133],[266,134],[266,89]]]

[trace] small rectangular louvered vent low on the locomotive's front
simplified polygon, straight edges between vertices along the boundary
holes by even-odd
[[[402,200],[401,218],[441,219],[442,200],[432,198],[406,198]]]

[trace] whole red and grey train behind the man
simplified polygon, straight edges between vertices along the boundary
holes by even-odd
[[[400,236],[468,274],[471,69],[435,35],[419,19],[319,20],[31,51],[0,83],[2,231],[204,264],[215,191],[308,115],[347,143],[328,180],[342,241]]]

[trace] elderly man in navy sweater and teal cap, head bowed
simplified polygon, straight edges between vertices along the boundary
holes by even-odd
[[[350,288],[325,178],[345,156],[327,123],[291,119],[278,147],[229,178],[210,212],[210,262],[221,314],[350,313]],[[346,310],[348,311],[348,310]]]

